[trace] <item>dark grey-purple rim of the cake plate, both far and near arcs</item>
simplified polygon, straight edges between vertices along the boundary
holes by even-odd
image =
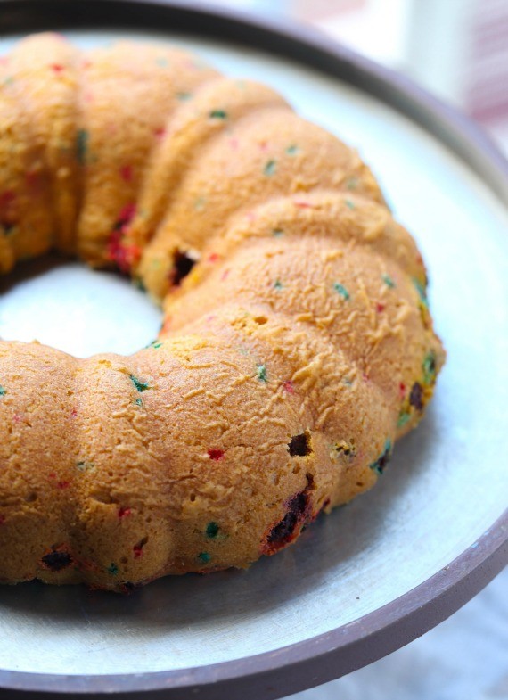
[[[195,0],[0,0],[5,35],[34,29],[127,27],[161,29],[268,49],[363,89],[402,111],[455,152],[508,206],[508,161],[471,119],[409,78],[339,45],[316,29]],[[119,12],[122,20],[118,21]],[[196,22],[200,20],[201,24]],[[196,26],[198,25],[198,26]],[[305,61],[302,51],[305,50]],[[174,671],[63,675],[0,670],[11,693],[65,693],[115,697],[143,693],[184,700],[223,696],[242,700],[282,697],[339,678],[406,645],[445,620],[508,563],[508,509],[479,539],[419,586],[353,622],[270,652]],[[225,695],[227,694],[227,695]]]

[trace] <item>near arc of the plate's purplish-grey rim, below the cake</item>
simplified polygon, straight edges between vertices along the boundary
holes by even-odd
[[[507,559],[505,512],[463,554],[419,586],[314,638],[242,659],[175,671],[102,675],[0,671],[0,686],[9,688],[9,693],[29,692],[30,697],[33,692],[37,696],[51,692],[97,700],[104,694],[132,699],[137,692],[171,700],[188,700],[193,693],[206,700],[274,700],[340,678],[420,637],[479,593],[504,569]]]

